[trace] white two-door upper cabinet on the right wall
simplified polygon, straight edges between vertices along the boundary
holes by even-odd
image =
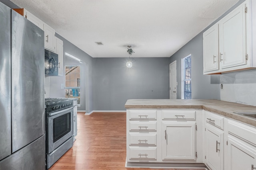
[[[204,74],[256,68],[255,10],[246,0],[203,33]]]

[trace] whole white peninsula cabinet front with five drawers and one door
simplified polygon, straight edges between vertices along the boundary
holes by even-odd
[[[202,110],[198,110],[202,116]],[[126,161],[128,163],[202,163],[202,123],[196,144],[195,109],[127,109]],[[160,165],[160,164],[159,164]]]

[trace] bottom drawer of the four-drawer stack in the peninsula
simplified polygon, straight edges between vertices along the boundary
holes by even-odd
[[[129,148],[129,159],[156,160],[156,148]]]

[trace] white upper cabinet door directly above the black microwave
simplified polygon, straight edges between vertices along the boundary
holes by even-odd
[[[52,29],[49,25],[44,23],[44,48],[56,52],[55,51],[55,30]]]

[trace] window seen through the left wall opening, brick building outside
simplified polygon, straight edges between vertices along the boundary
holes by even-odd
[[[80,104],[80,66],[66,66],[65,96],[78,98]]]

